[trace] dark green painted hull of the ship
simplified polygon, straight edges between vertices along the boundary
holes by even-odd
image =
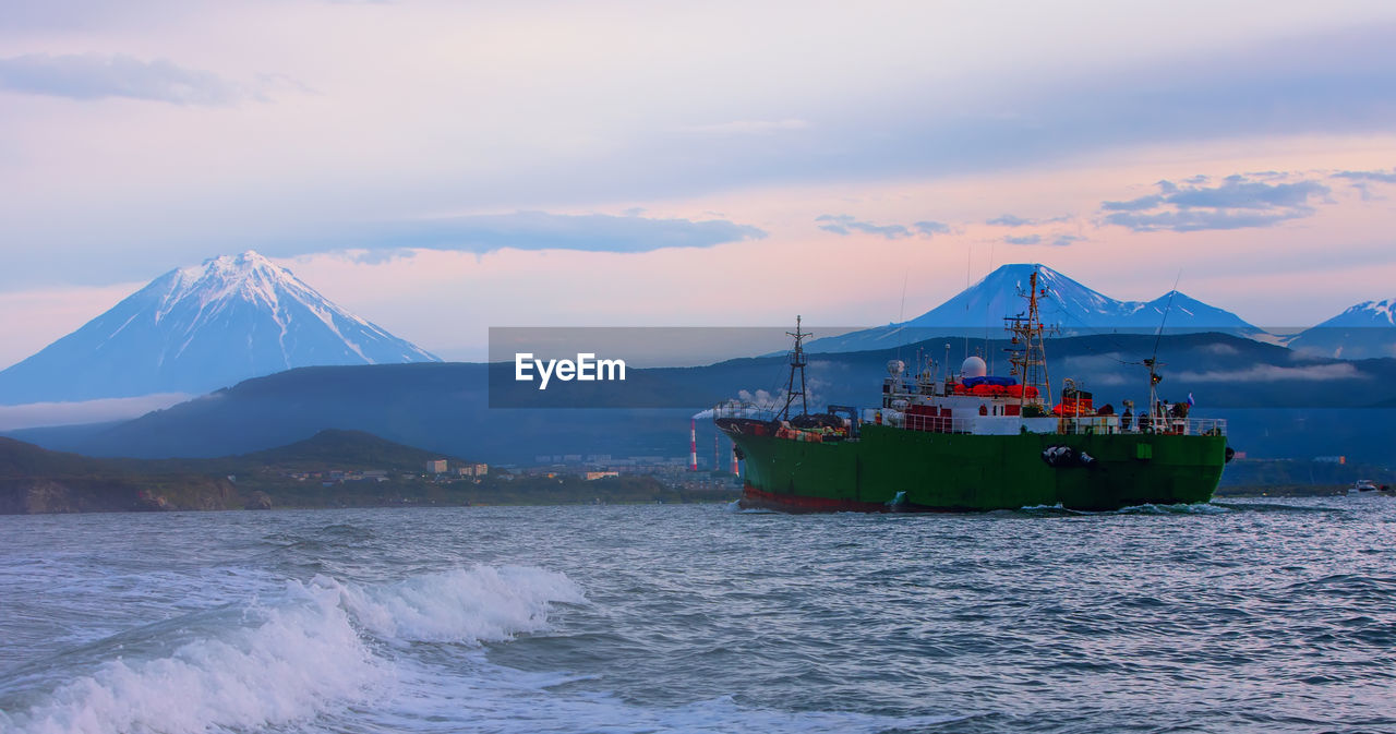
[[[898,507],[924,511],[1206,502],[1226,463],[1224,435],[972,435],[864,424],[859,441],[818,444],[727,433],[745,455],[748,498],[815,500],[829,509],[886,505],[898,493],[906,493]],[[1048,447],[1096,462],[1053,467],[1041,459]]]

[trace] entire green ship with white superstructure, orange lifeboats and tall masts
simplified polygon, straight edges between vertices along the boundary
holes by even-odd
[[[785,407],[764,414],[725,405],[713,420],[744,459],[741,507],[787,512],[965,512],[1055,507],[1083,511],[1212,498],[1231,458],[1224,420],[1187,416],[1154,396],[1148,410],[1115,414],[1065,381],[1053,405],[1039,320],[1036,274],[1027,311],[1005,320],[1019,349],[1012,377],[990,377],[967,357],[941,380],[888,364],[877,409],[829,406],[810,414],[799,321]],[[799,375],[799,378],[797,378]],[[805,410],[792,414],[796,399]]]

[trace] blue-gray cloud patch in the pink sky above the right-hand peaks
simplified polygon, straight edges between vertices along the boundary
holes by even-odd
[[[1198,176],[1182,186],[1164,180],[1156,184],[1157,194],[1104,201],[1100,209],[1111,214],[1103,220],[1135,232],[1266,227],[1312,215],[1312,200],[1330,191],[1318,181],[1270,184],[1241,174],[1213,187],[1202,183]]]

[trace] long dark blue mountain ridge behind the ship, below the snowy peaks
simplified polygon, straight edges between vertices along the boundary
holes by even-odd
[[[938,347],[923,342],[916,347]],[[963,343],[956,343],[956,350]],[[1002,339],[977,346],[1002,353]],[[1346,455],[1389,462],[1396,407],[1396,359],[1308,359],[1283,346],[1223,334],[1103,334],[1053,339],[1048,371],[1071,377],[1097,403],[1149,395],[1142,357],[1164,368],[1160,398],[1195,396],[1202,417],[1228,420],[1237,451],[1252,456]],[[875,406],[886,361],[898,349],[828,353],[810,360],[811,409]],[[958,364],[965,353],[951,354]],[[367,431],[443,455],[491,465],[529,465],[539,455],[687,456],[695,410],[741,392],[779,395],[785,356],[727,360],[706,367],[635,368],[627,389],[670,396],[653,407],[490,409],[490,373],[508,363],[310,367],[248,380],[168,410],[85,433],[35,428],[11,435],[92,456],[226,456],[302,441],[336,427]],[[1002,374],[1002,373],[997,373]],[[536,391],[535,391],[536,392]],[[687,402],[687,407],[678,407]],[[698,420],[699,460],[713,442],[711,420]]]

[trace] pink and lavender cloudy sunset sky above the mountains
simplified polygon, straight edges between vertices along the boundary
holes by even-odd
[[[250,248],[445,359],[885,324],[1004,262],[1312,325],[1396,296],[1392,38],[1389,1],[10,0],[0,367]]]

